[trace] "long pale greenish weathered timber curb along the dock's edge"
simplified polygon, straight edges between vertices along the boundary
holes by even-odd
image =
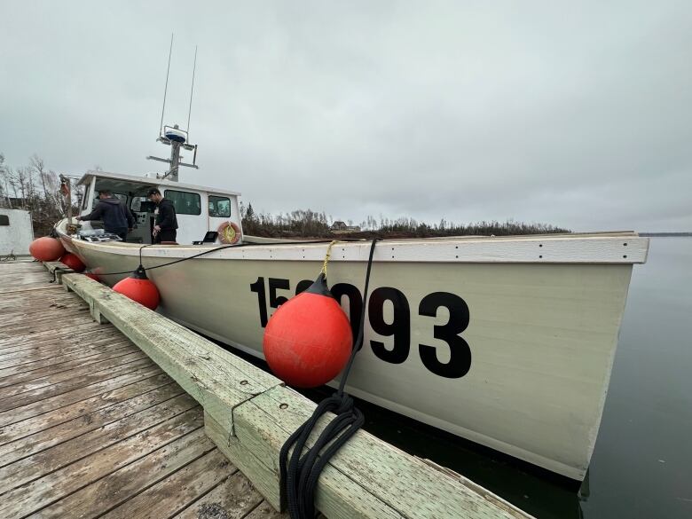
[[[51,272],[61,263],[44,263]],[[110,322],[204,408],[205,432],[280,510],[279,450],[316,405],[271,374],[82,274],[59,282]],[[333,415],[318,422],[316,433]],[[317,435],[313,435],[317,436]],[[319,477],[315,504],[329,518],[530,518],[491,491],[359,430]]]

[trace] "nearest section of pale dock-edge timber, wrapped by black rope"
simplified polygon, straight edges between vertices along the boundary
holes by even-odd
[[[279,504],[279,450],[316,405],[293,389],[277,387],[235,409],[234,434],[205,416],[207,435],[240,467],[264,497]],[[328,421],[318,421],[311,439]],[[308,444],[312,444],[311,441]],[[245,472],[249,471],[249,474]],[[453,475],[453,477],[452,477]],[[452,471],[441,471],[360,430],[329,461],[319,478],[316,506],[327,517],[526,518],[521,510]],[[358,498],[355,498],[358,496]]]

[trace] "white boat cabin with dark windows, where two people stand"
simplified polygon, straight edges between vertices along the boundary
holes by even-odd
[[[238,225],[242,236],[238,201],[240,193],[181,184],[161,178],[134,177],[104,171],[89,171],[80,178],[77,185],[84,187],[79,213],[81,216],[88,215],[96,207],[100,190],[110,191],[130,208],[137,227],[128,234],[128,242],[152,242],[155,204],[146,198],[146,193],[153,187],[157,188],[164,198],[172,201],[176,208],[177,243],[185,245],[202,241],[205,237],[209,238],[208,232],[216,232],[220,226],[227,223]],[[83,231],[103,229],[103,224],[97,221],[82,224]],[[218,237],[209,243],[219,243]]]

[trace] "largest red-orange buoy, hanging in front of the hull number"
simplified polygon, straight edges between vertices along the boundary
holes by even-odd
[[[349,360],[349,318],[326,287],[324,274],[269,319],[264,358],[281,380],[299,388],[331,381]]]

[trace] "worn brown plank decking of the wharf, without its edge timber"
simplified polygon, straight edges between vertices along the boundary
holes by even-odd
[[[193,397],[50,279],[0,263],[0,517],[285,517]]]

